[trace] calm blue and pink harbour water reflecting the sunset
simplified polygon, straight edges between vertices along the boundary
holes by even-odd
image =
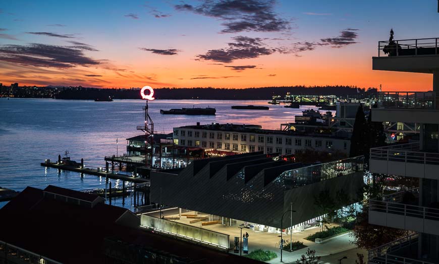
[[[140,135],[145,101],[116,100],[94,102],[54,99],[0,98],[0,186],[23,190],[26,186],[44,188],[49,184],[85,190],[104,188],[105,179],[93,175],[40,166],[44,159],[56,160],[69,150],[72,160],[84,159],[87,167],[105,166],[103,157],[125,153],[125,139]],[[301,109],[271,106],[270,110],[234,110],[232,105],[268,105],[266,101],[155,100],[149,103],[154,130],[170,133],[173,127],[200,122],[260,124],[280,129],[294,121]],[[161,109],[215,107],[216,116],[161,115]],[[315,108],[315,107],[314,107]],[[113,182],[113,184],[119,182]],[[129,208],[130,203],[125,204]],[[116,200],[122,206],[122,200]],[[0,207],[6,203],[0,203]]]

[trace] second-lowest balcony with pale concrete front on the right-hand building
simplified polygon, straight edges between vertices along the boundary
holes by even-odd
[[[439,209],[418,204],[419,188],[371,199],[369,223],[439,235]]]

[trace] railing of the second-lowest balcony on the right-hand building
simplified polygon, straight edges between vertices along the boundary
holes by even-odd
[[[406,194],[409,195],[406,196]],[[439,209],[404,204],[417,204],[418,197],[419,189],[415,188],[386,195],[382,197],[382,200],[370,199],[369,211],[439,221]]]

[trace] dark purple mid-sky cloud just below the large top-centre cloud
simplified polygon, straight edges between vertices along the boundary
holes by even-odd
[[[206,54],[197,55],[199,59],[229,63],[235,59],[256,58],[269,55],[276,49],[267,48],[260,38],[237,36],[235,42],[228,43],[228,48],[211,49]]]

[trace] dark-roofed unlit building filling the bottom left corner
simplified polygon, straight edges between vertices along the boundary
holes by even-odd
[[[27,187],[0,209],[0,263],[261,262],[194,239],[150,232],[128,209],[105,205],[94,194],[49,185],[43,190]]]

